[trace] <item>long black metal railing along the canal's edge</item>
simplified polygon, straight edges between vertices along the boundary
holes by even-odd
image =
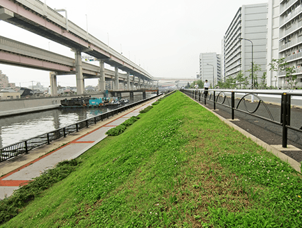
[[[159,94],[161,95],[161,94]],[[38,148],[45,144],[50,144],[51,141],[55,141],[56,139],[60,139],[61,137],[67,137],[67,135],[79,131],[83,128],[88,128],[89,126],[96,124],[97,122],[103,121],[104,119],[108,119],[113,115],[117,115],[118,113],[122,113],[128,109],[131,109],[134,106],[142,104],[143,102],[147,102],[148,100],[152,100],[159,95],[155,95],[151,98],[147,98],[144,100],[140,100],[138,102],[134,102],[132,104],[128,104],[125,106],[121,106],[120,108],[113,109],[112,111],[108,111],[106,113],[102,113],[100,115],[96,115],[95,117],[91,117],[89,119],[84,119],[81,122],[76,122],[75,124],[71,124],[69,126],[65,126],[62,128],[58,128],[56,130],[52,130],[48,133],[44,133],[43,135],[38,135],[36,137],[32,137],[30,139],[26,139],[23,141],[19,141],[16,144],[11,144],[9,146],[5,146],[0,148],[0,162],[11,159],[12,157],[16,157],[17,155],[21,155],[23,153],[28,153],[30,150],[34,148]]]

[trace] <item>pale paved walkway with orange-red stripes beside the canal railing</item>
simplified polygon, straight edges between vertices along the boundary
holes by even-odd
[[[146,104],[141,104],[124,113],[110,117],[104,122],[98,122],[85,130],[59,139],[50,146],[31,150],[28,155],[23,154],[0,163],[0,174],[3,175],[0,177],[0,199],[12,195],[20,185],[25,185],[27,181],[40,176],[45,170],[54,168],[60,161],[79,157],[86,150],[102,141],[107,136],[105,134],[107,130],[118,126],[132,116],[139,115],[139,111],[158,99],[154,98]],[[79,137],[79,135],[81,136]],[[48,153],[45,154],[45,152]]]

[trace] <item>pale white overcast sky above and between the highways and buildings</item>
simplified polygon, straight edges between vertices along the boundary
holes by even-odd
[[[42,0],[43,1],[43,0]],[[87,29],[103,43],[122,52],[154,77],[193,78],[199,54],[221,54],[222,38],[242,5],[267,0],[46,0],[51,8],[66,9],[69,21]],[[65,16],[65,13],[62,12]],[[0,35],[74,58],[63,47],[19,27],[0,21]],[[108,67],[107,67],[108,68]],[[10,82],[28,87],[49,86],[49,71],[1,65]],[[75,86],[75,76],[58,76],[61,86]],[[85,80],[85,86],[97,80]]]

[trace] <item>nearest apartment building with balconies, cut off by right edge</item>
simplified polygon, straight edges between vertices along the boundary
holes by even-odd
[[[279,58],[285,58],[295,67],[297,86],[302,86],[302,1],[269,1],[270,6],[279,4]],[[276,16],[277,12],[272,12]],[[277,57],[277,56],[276,56]],[[278,87],[288,87],[285,72],[278,72]],[[272,78],[274,80],[274,78]]]

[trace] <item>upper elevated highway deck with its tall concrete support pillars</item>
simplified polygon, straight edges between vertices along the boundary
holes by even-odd
[[[108,45],[102,43],[88,32],[82,30],[67,18],[38,0],[1,0],[0,19],[34,32],[51,41],[70,47],[75,52],[75,73],[78,93],[84,93],[82,72],[82,52],[100,60],[101,89],[104,90],[104,62],[115,67],[115,89],[119,89],[118,69],[127,75],[152,81],[144,69],[122,56]]]

